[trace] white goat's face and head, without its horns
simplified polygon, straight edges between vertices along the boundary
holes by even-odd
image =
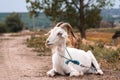
[[[46,46],[61,45],[67,38],[67,32],[61,27],[54,27],[49,31],[49,37],[46,40]]]

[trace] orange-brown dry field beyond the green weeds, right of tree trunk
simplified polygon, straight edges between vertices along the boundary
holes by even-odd
[[[113,45],[112,36],[115,31],[119,30],[120,28],[90,29],[87,32],[87,40],[94,42],[102,41],[107,45]],[[118,46],[120,46],[120,37],[118,37]]]

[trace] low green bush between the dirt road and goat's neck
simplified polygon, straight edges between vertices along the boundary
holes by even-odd
[[[34,51],[39,52],[38,56],[46,56],[50,55],[50,49],[46,48],[45,41],[47,37],[46,36],[40,36],[40,37],[32,37],[30,39],[27,39],[27,46],[33,47]]]

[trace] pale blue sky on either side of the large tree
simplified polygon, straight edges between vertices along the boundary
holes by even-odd
[[[0,12],[28,12],[26,0],[1,0]],[[119,7],[119,0],[116,0],[114,8]]]

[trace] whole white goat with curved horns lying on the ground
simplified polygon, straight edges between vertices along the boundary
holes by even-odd
[[[49,31],[50,35],[46,40],[46,45],[52,49],[53,53],[53,68],[47,72],[47,75],[53,77],[56,73],[61,75],[69,73],[70,76],[80,76],[89,72],[92,65],[94,65],[96,73],[102,75],[103,72],[91,51],[85,52],[84,50],[66,47],[66,38],[68,35],[63,28],[66,27],[70,29],[70,24],[62,23],[59,26],[60,27],[55,26]],[[69,61],[69,59],[75,60],[80,64],[75,64]]]

